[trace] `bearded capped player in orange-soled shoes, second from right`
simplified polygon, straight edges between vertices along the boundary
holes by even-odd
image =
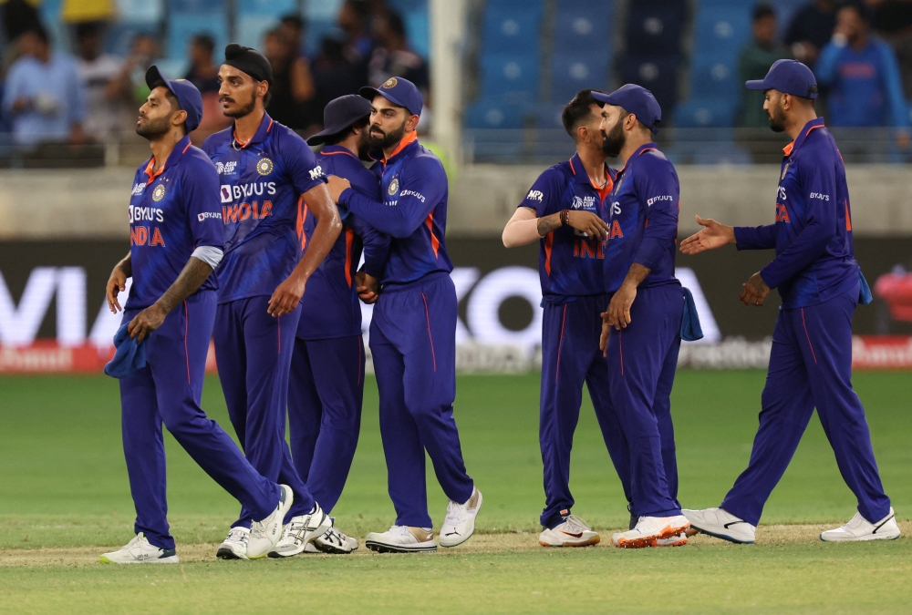
[[[627,440],[630,497],[637,525],[612,536],[621,548],[677,546],[689,521],[677,500],[678,467],[671,423],[671,386],[681,343],[685,293],[675,278],[680,186],[658,151],[662,110],[648,89],[626,85],[603,103],[603,149],[624,162],[608,210],[605,253],[610,295],[600,347],[608,385]]]

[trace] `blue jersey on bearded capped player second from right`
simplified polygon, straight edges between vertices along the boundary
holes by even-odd
[[[679,283],[675,278],[680,183],[655,143],[637,149],[617,171],[608,198],[611,230],[605,254],[605,290],[616,292],[633,263],[648,268],[639,288]]]

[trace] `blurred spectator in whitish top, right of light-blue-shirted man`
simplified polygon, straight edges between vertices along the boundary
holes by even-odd
[[[84,22],[76,26],[79,56],[76,61],[79,79],[86,91],[86,134],[100,142],[114,138],[125,121],[131,92],[119,79],[123,59],[101,53],[104,29],[102,22]],[[134,114],[135,115],[135,114]]]

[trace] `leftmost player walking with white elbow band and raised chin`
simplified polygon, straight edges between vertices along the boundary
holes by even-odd
[[[261,476],[200,407],[218,286],[211,274],[224,246],[218,174],[187,136],[200,124],[202,96],[191,82],[169,81],[154,66],[146,84],[151,92],[140,107],[136,132],[149,140],[152,157],[133,181],[130,253],[111,272],[107,287],[109,308],[118,313],[118,292],[133,278],[123,323],[145,347],[147,362],[120,380],[136,538],[101,561],[178,561],[168,526],[162,423],[251,518],[259,519],[247,557],[261,558],[282,536],[292,491]]]

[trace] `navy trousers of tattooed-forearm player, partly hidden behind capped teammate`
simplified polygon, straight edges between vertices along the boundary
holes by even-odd
[[[544,303],[542,321],[542,394],[539,443],[544,465],[541,522],[554,528],[570,513],[570,451],[583,402],[583,385],[596,410],[598,426],[630,501],[627,440],[621,432],[608,388],[608,365],[598,349],[606,294],[577,297],[562,304]],[[670,416],[670,415],[669,415]]]

